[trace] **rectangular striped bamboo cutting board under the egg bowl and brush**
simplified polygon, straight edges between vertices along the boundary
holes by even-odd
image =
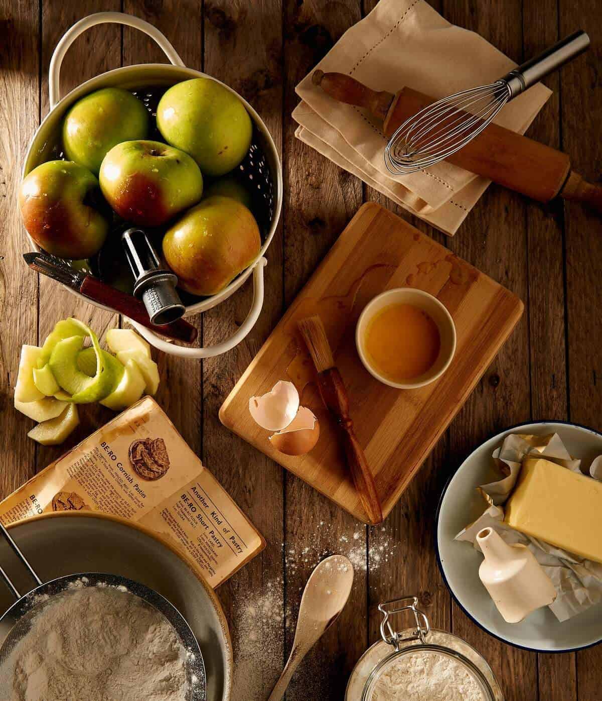
[[[370,375],[355,345],[365,305],[392,287],[435,295],[456,325],[456,355],[440,379],[396,390]],[[374,472],[386,517],[449,425],[523,311],[522,302],[491,278],[375,203],[366,203],[301,290],[220,409],[224,426],[301,477],[360,521],[367,516],[349,476],[335,423],[321,404],[314,367],[297,321],[318,313],[351,403],[351,417]],[[320,439],[304,456],[272,448],[248,400],[279,380],[295,383],[301,403],[320,422]]]

